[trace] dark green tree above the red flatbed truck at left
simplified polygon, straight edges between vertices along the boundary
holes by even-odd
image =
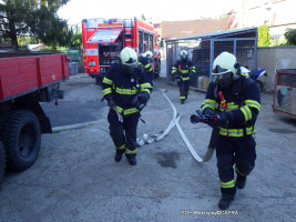
[[[67,21],[58,18],[59,8],[69,0],[2,0],[0,3],[0,36],[9,38],[18,51],[18,37],[34,36],[43,43],[61,46],[71,36]],[[70,38],[71,39],[71,38]]]

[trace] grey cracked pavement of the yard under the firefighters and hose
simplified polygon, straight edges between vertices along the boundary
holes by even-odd
[[[42,135],[34,165],[4,176],[1,222],[296,221],[296,122],[273,113],[271,94],[262,95],[256,167],[229,210],[220,211],[216,158],[197,163],[176,128],[161,141],[139,148],[137,165],[131,167],[125,158],[114,162],[108,107],[100,102],[101,88],[93,83],[93,79],[78,74],[62,84],[64,100],[54,108],[59,114],[50,111],[55,133]],[[173,110],[160,91],[166,89],[182,115],[180,125],[203,155],[211,129],[191,124],[190,117],[205,94],[192,90],[188,101],[181,105],[175,85],[167,84],[165,78],[154,84],[142,113],[146,123],[139,124],[139,138],[169,125]],[[68,108],[71,102],[76,103],[72,110]],[[80,121],[72,112],[91,118]],[[67,120],[68,127],[61,127],[57,115],[73,122]],[[78,122],[84,124],[69,127]]]

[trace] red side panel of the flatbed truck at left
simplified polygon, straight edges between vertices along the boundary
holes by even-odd
[[[32,92],[68,77],[67,54],[0,59],[0,101]]]

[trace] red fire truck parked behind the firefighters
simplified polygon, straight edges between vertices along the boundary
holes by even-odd
[[[82,43],[85,73],[100,84],[112,62],[119,61],[124,47],[133,48],[137,54],[150,50],[154,54],[152,67],[159,77],[161,54],[159,33],[153,26],[135,19],[84,19],[82,21]]]

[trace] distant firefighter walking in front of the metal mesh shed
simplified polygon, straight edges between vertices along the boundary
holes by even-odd
[[[188,59],[188,53],[185,50],[180,52],[181,59],[172,67],[172,75],[176,80],[180,88],[181,104],[184,104],[190,93],[190,79],[195,73],[195,67]]]

